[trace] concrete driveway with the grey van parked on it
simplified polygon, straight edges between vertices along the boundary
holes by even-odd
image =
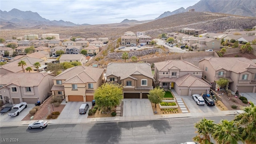
[[[79,114],[79,108],[81,104],[88,103],[89,108],[86,112],[86,114]],[[68,118],[87,118],[89,110],[92,108],[92,102],[63,102],[61,104],[66,104],[62,112],[60,113],[60,116],[58,117],[58,120],[60,119],[68,119]]]

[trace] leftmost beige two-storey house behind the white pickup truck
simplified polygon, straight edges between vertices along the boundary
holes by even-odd
[[[53,84],[53,74],[48,73],[7,73],[0,75],[0,94],[3,102],[35,104],[48,97]]]

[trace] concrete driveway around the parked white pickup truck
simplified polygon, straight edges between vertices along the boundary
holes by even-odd
[[[24,108],[24,110],[22,110],[18,116],[8,116],[8,112],[6,112],[4,115],[0,116],[0,122],[21,121],[34,107],[35,104],[27,104],[27,108]]]

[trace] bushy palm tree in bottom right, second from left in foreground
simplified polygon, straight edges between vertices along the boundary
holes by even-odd
[[[214,127],[212,137],[218,144],[238,144],[238,142],[244,142],[236,123],[228,120],[221,120],[221,123]]]

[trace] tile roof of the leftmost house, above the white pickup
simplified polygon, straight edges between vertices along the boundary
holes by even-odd
[[[45,73],[38,73],[38,72],[25,72],[25,73],[7,73],[4,75],[1,75],[1,85],[8,85],[8,84],[16,84],[17,86],[22,86],[22,87],[33,87],[33,86],[38,86],[44,76],[46,75],[51,75],[52,74],[45,74]]]

